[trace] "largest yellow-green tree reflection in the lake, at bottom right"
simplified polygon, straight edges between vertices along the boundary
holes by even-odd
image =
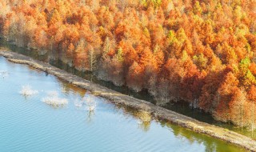
[[[222,140],[219,140],[217,138],[211,138],[205,134],[198,134],[195,133],[192,130],[187,130],[185,128],[182,128],[181,126],[176,126],[171,124],[170,122],[164,122],[161,121],[162,126],[166,126],[170,128],[171,132],[175,135],[177,138],[186,138],[190,142],[190,144],[193,144],[194,142],[203,144],[206,147],[205,151],[225,151],[225,152],[236,152],[236,151],[244,151],[242,148],[239,149],[237,146],[229,145],[227,146],[227,142],[224,142]]]

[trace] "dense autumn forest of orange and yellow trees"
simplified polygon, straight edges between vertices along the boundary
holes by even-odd
[[[2,0],[0,32],[159,106],[255,128],[255,0]]]

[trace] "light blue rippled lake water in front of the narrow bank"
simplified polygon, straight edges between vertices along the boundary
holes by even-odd
[[[53,75],[2,57],[0,71],[9,73],[0,77],[1,152],[243,151],[167,122],[142,123],[134,116],[134,110],[114,106]],[[19,94],[25,85],[38,90],[38,94]],[[54,107],[42,102],[51,91],[69,103]],[[96,102],[94,112],[77,106],[85,96]]]

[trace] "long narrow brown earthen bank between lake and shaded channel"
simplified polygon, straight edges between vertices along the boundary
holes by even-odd
[[[175,113],[171,110],[166,110],[162,107],[155,106],[150,102],[139,100],[125,94],[120,94],[114,90],[110,90],[104,86],[94,84],[85,79],[69,74],[64,70],[60,70],[54,66],[50,66],[45,62],[39,62],[33,58],[26,57],[14,52],[0,50],[0,56],[6,57],[10,62],[26,64],[38,70],[43,70],[48,74],[53,74],[63,81],[70,82],[76,86],[90,90],[93,94],[109,99],[116,105],[129,106],[138,110],[146,110],[150,112],[154,118],[167,120],[178,126],[183,126],[195,132],[207,134],[214,138],[222,139],[226,142],[233,143],[238,146],[244,147],[246,150],[256,151],[256,141],[242,134],[235,133],[230,130],[223,129],[218,126],[213,126],[205,122],[199,122],[194,118],[186,117],[182,114]]]

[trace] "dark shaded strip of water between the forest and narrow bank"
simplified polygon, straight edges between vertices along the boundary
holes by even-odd
[[[122,94],[127,94],[130,96],[133,96],[134,98],[146,100],[148,102],[155,103],[154,98],[150,96],[150,94],[147,92],[147,90],[142,90],[140,92],[135,92],[134,90],[130,90],[126,86],[115,86],[112,82],[106,82],[103,80],[98,79],[90,72],[84,72],[75,69],[74,67],[70,67],[68,64],[63,63],[58,57],[54,56],[53,54],[46,53],[46,54],[39,54],[37,51],[34,50],[28,50],[23,47],[18,47],[14,44],[11,44],[10,42],[6,42],[3,38],[0,38],[0,47],[7,48],[13,52],[16,52],[18,54],[23,54],[26,56],[29,56],[31,58],[38,59],[42,62],[48,62],[50,65],[58,67],[59,69],[66,70],[67,72],[71,74],[75,74],[80,78],[85,78],[86,80],[89,80],[94,83],[98,83],[101,86],[106,86],[107,88],[110,88],[111,90],[116,90]],[[51,58],[50,58],[51,57]],[[244,134],[250,138],[256,139],[256,130],[254,132],[251,132],[250,130],[241,130],[240,128],[236,128],[232,124],[218,122],[212,118],[212,116],[202,110],[198,109],[192,109],[189,106],[189,103],[187,102],[177,102],[177,103],[171,103],[166,106],[164,106],[168,110],[173,110],[179,114],[184,114],[186,116],[189,116],[190,118],[195,118],[198,121],[201,122],[207,122],[210,124],[213,124],[215,126],[222,126],[229,130],[234,130],[238,132],[239,134]]]

